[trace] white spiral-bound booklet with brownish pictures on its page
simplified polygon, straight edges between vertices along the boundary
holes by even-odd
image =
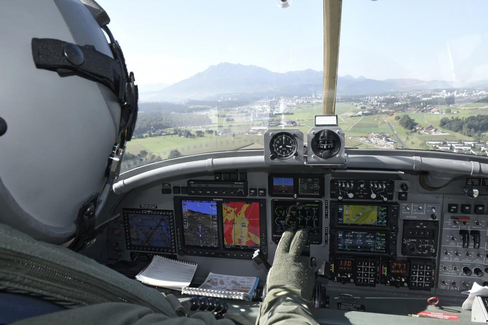
[[[257,288],[259,278],[217,274],[210,272],[198,288],[185,287],[182,294],[249,301]]]

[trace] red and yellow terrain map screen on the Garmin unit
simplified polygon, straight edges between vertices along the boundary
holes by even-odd
[[[259,248],[260,216],[258,202],[222,203],[225,248]]]

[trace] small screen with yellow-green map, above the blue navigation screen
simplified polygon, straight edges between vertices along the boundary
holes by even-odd
[[[338,224],[386,227],[388,207],[339,205]]]

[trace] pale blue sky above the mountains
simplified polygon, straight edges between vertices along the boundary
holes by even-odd
[[[141,90],[221,62],[323,70],[322,0],[98,2]],[[344,0],[339,75],[488,80],[487,12],[486,0]]]

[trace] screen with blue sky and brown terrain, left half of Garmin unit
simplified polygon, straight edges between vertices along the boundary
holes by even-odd
[[[185,245],[219,247],[217,202],[184,200],[181,212]]]

